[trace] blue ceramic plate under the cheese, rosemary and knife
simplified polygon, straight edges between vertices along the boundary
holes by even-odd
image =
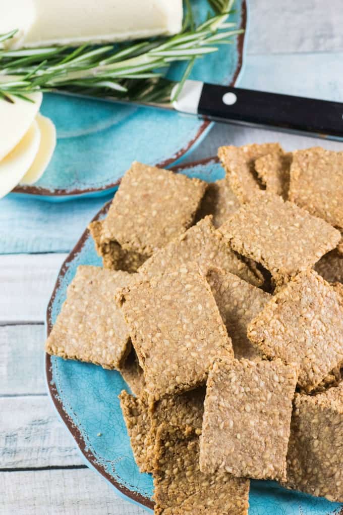
[[[208,0],[192,0],[197,21],[206,19]],[[231,21],[246,28],[246,2],[236,0]],[[196,62],[191,78],[235,84],[242,67],[244,35]],[[185,64],[173,65],[178,80]],[[57,127],[57,147],[41,179],[15,194],[50,201],[99,196],[115,190],[132,161],[168,167],[182,160],[212,127],[173,111],[57,94],[45,94],[41,109]],[[123,152],[123,149],[125,151]]]

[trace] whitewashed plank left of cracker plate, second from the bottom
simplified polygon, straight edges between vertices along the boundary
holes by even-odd
[[[46,396],[0,398],[0,414],[0,469],[84,464]]]

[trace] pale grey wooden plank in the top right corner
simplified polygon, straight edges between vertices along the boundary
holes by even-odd
[[[249,0],[249,8],[249,54],[343,49],[341,0]]]

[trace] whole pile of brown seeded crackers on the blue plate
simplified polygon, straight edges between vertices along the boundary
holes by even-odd
[[[46,350],[121,372],[155,513],[244,515],[250,478],[343,502],[343,153],[219,157],[133,163]]]

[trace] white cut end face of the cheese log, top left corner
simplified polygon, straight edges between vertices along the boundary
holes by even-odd
[[[16,29],[15,36],[4,46],[19,46],[32,27],[36,17],[33,0],[0,0],[0,34],[7,34]]]

